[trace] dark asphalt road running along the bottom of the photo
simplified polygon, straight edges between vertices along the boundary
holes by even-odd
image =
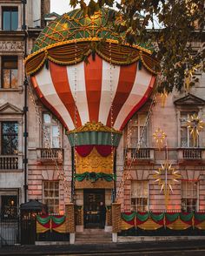
[[[141,256],[205,256],[205,240],[112,243],[68,246],[8,246],[0,255],[141,255]]]

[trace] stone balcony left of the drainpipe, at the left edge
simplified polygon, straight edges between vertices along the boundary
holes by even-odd
[[[0,155],[0,171],[13,171],[23,169],[23,156]]]

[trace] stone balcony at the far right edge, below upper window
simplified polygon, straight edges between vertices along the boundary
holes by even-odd
[[[180,148],[178,149],[178,161],[184,162],[199,162],[205,160],[205,149],[203,148]]]

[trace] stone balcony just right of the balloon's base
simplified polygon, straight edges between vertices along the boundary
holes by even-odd
[[[135,157],[134,162],[153,162],[154,161],[154,149],[141,148],[136,150],[135,148],[129,148],[127,150],[127,161],[131,161]]]

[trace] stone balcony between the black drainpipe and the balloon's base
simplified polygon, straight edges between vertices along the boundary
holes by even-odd
[[[63,163],[63,149],[62,148],[38,148],[36,149],[38,162],[52,162]]]

